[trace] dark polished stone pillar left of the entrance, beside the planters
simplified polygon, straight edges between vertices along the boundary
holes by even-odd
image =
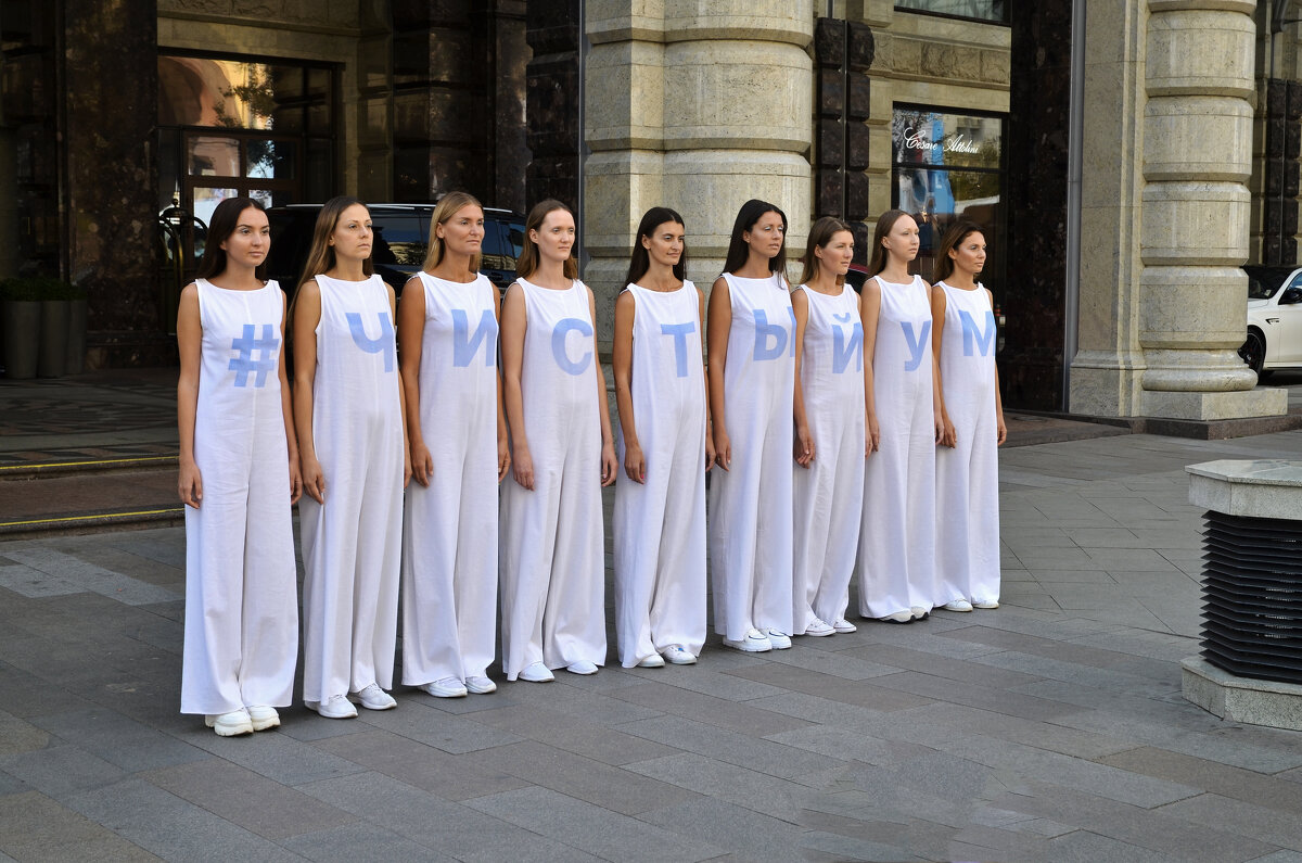
[[[91,368],[174,361],[158,249],[158,4],[78,0],[62,14],[66,275],[89,292]]]

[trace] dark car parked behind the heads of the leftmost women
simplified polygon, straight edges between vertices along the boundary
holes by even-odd
[[[267,275],[293,291],[307,262],[316,226],[319,203],[292,203],[267,210],[271,220],[271,254]],[[432,203],[370,203],[375,239],[371,258],[375,271],[395,291],[401,292],[406,280],[424,263],[428,249]],[[497,285],[506,288],[516,279],[516,258],[525,241],[525,218],[510,210],[484,207],[483,261],[479,271]]]

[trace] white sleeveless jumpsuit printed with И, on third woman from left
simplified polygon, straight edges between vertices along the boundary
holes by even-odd
[[[497,630],[497,288],[421,272],[419,411],[434,472],[408,486],[402,682],[483,677]],[[408,291],[418,289],[410,284]]]

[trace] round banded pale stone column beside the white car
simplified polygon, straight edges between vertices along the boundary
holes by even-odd
[[[1148,0],[1139,344],[1144,416],[1284,413],[1243,343],[1255,0]]]

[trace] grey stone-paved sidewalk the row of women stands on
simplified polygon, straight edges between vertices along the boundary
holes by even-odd
[[[1302,734],[1180,696],[1217,458],[1302,433],[1006,450],[999,611],[242,739],[176,712],[181,529],[0,544],[0,853],[1302,860]]]

